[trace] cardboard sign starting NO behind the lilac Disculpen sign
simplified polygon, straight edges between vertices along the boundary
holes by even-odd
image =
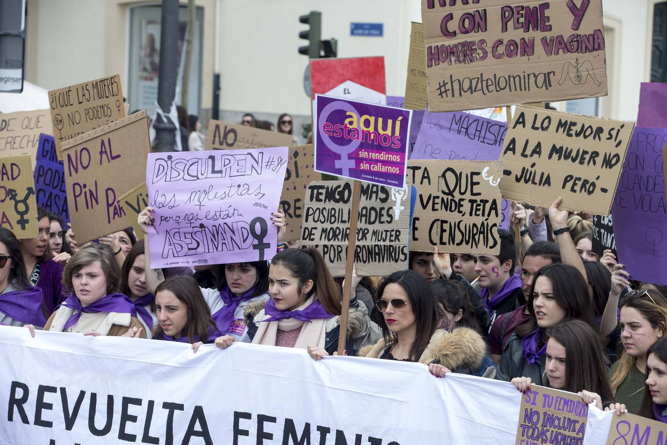
[[[292,135],[289,134],[211,119],[204,149],[290,147],[292,142]]]

